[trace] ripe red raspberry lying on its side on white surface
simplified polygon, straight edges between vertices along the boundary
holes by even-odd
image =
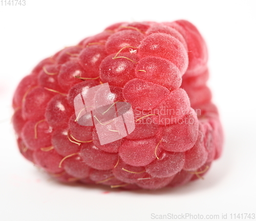
[[[135,190],[202,179],[223,131],[186,20],[117,23],[40,61],[13,97],[19,151],[61,182]]]

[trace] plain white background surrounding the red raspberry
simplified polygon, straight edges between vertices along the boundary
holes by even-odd
[[[0,6],[0,219],[152,220],[152,213],[227,213],[230,220],[230,213],[256,213],[255,3],[26,0],[26,6]],[[63,185],[21,156],[10,123],[11,99],[39,60],[118,21],[181,18],[206,39],[208,84],[225,130],[223,155],[204,181],[134,192]]]

